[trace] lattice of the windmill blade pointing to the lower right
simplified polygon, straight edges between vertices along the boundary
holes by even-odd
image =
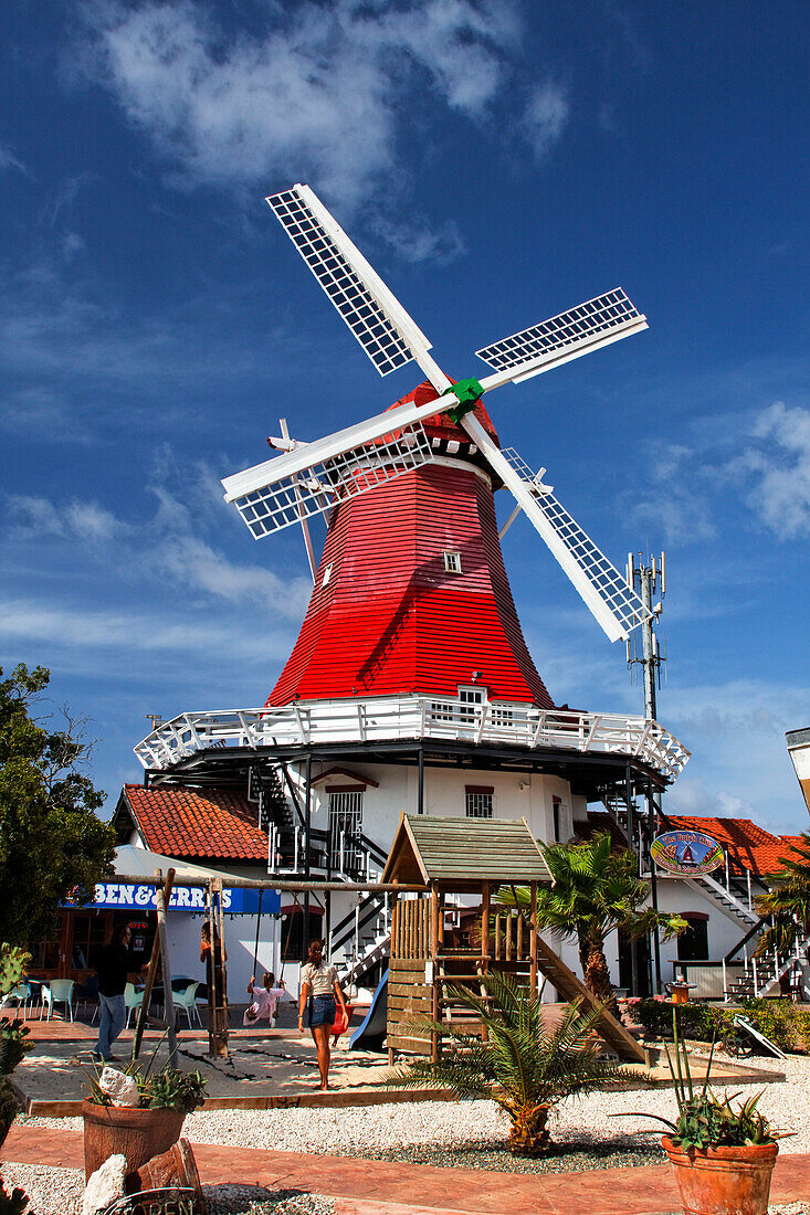
[[[576,565],[590,580],[594,589],[619,623],[626,635],[630,629],[649,620],[652,612],[645,608],[641,598],[631,590],[617,567],[596,547],[590,536],[580,527],[566,508],[557,502],[550,490],[538,484],[535,474],[513,447],[502,453],[522,481],[525,481],[538,507],[557,532]]]

